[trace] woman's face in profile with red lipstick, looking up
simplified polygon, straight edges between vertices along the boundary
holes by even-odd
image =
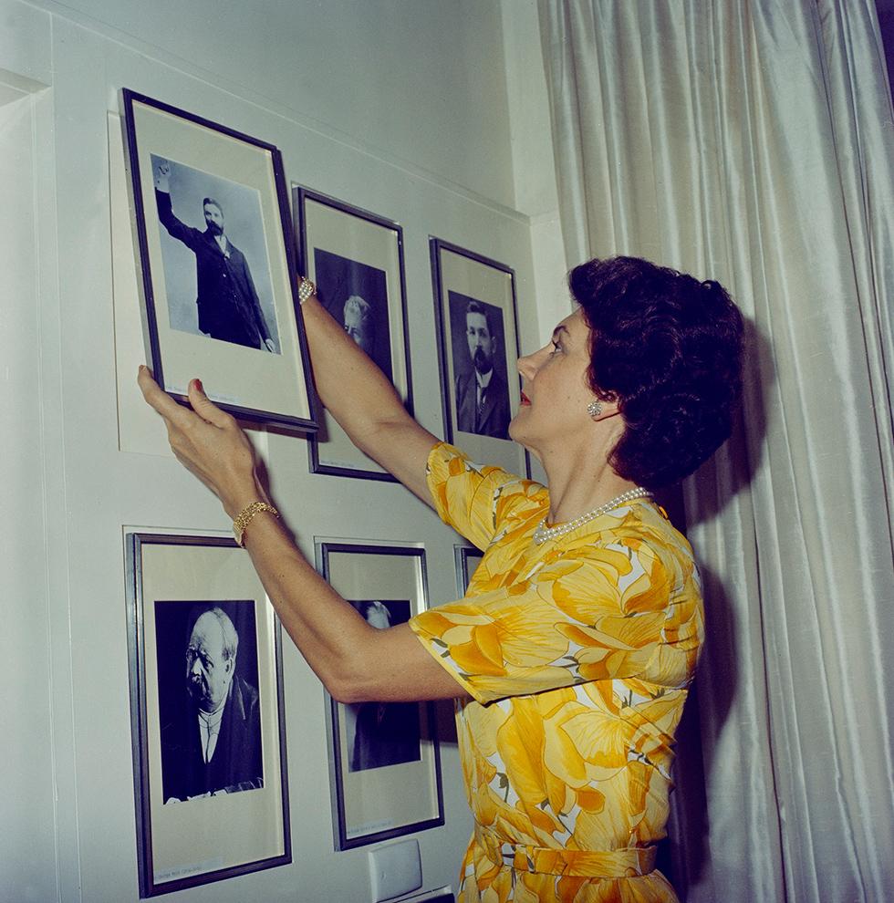
[[[518,358],[522,401],[509,435],[542,458],[553,448],[577,448],[589,441],[592,418],[587,404],[595,396],[587,382],[590,329],[576,310],[553,330],[539,351]]]

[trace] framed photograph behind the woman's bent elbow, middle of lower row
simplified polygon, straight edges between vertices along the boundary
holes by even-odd
[[[426,607],[420,548],[317,542],[317,569],[377,628]],[[428,702],[330,700],[332,821],[338,850],[443,825],[441,758]]]

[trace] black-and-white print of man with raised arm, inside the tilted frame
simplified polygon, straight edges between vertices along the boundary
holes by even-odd
[[[172,329],[279,354],[256,189],[151,154]]]

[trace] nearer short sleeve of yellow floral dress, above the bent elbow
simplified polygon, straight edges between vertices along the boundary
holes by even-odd
[[[676,687],[691,677],[700,630],[670,618],[670,598],[647,545],[591,545],[512,586],[421,612],[411,628],[483,703],[611,678]]]

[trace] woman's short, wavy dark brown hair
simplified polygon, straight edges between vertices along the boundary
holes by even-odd
[[[743,322],[717,282],[639,257],[575,267],[591,329],[590,386],[625,430],[608,461],[650,489],[688,476],[725,441],[742,388]]]

